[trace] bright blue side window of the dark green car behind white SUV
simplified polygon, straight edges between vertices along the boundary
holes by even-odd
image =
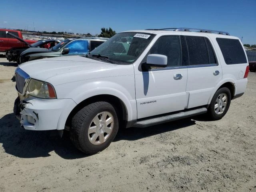
[[[74,40],[70,42],[65,48],[69,48],[68,54],[87,54],[88,41],[87,40]]]

